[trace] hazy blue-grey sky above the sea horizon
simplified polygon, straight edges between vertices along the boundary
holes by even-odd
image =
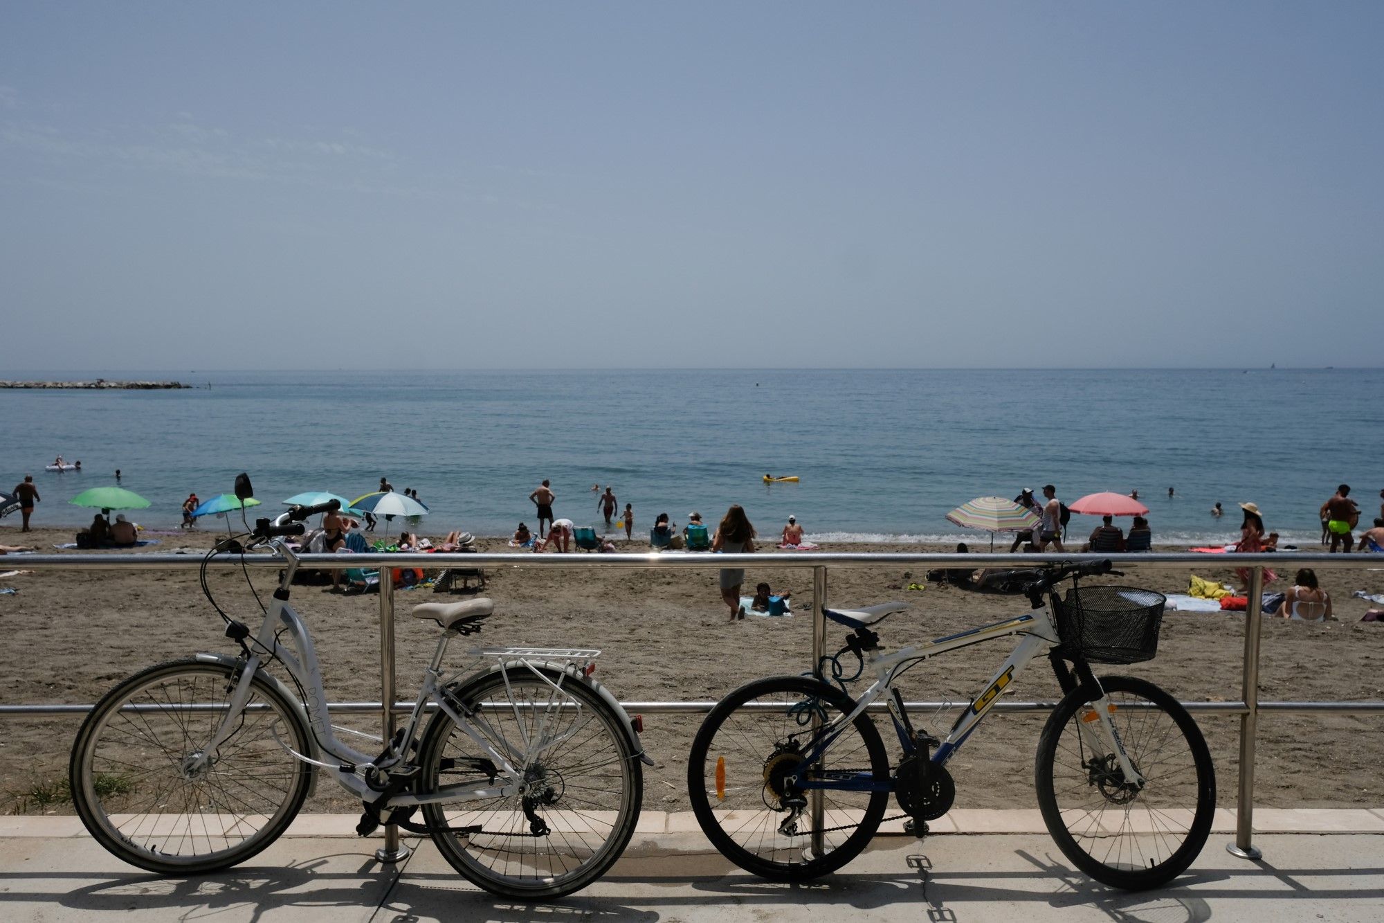
[[[1378,366],[1384,4],[7,3],[24,369]]]

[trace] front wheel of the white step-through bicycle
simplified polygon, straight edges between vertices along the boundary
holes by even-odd
[[[303,807],[311,766],[273,733],[298,753],[311,737],[262,675],[251,680],[241,725],[190,775],[187,759],[210,741],[221,712],[173,705],[224,704],[231,676],[228,665],[195,658],[158,664],[102,696],[82,723],[68,765],[72,804],[118,858],[165,874],[226,869],[278,838]]]

